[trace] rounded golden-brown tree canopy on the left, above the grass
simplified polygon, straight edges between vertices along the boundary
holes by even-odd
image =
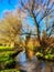
[[[0,21],[0,42],[14,47],[20,42],[21,21],[12,13],[6,14]]]

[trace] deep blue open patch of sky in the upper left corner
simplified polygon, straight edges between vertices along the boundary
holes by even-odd
[[[17,0],[11,0],[11,2],[9,0],[0,0],[0,18],[2,18],[4,10],[13,10],[17,3]]]

